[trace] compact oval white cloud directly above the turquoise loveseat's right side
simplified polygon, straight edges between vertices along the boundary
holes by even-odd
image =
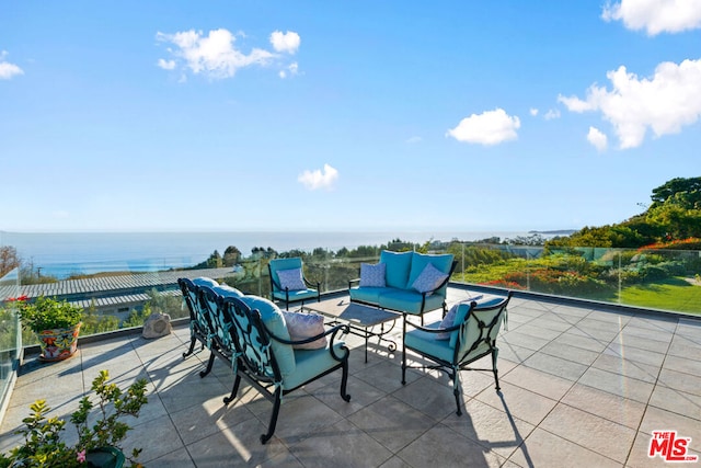
[[[516,139],[518,137],[516,129],[520,126],[518,117],[512,117],[503,109],[496,109],[463,118],[457,127],[448,130],[447,136],[451,136],[458,141],[497,145],[502,141]]]

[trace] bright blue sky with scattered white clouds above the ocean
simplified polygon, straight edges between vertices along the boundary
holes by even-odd
[[[0,0],[0,230],[526,231],[701,175],[701,0]]]

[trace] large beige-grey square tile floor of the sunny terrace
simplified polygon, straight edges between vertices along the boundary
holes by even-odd
[[[466,295],[450,288],[449,303]],[[338,396],[340,373],[312,383],[285,399],[275,436],[261,445],[272,404],[244,387],[226,407],[230,369],[217,362],[200,378],[208,353],[183,359],[189,331],[180,327],[158,340],[80,345],[50,365],[25,356],[0,450],[19,443],[35,399],[67,416],[107,369],[120,387],[149,381],[125,444],[143,448],[147,467],[666,466],[647,456],[657,430],[691,437],[689,455],[701,454],[701,320],[526,298],[512,299],[508,315],[497,342],[502,391],[491,373],[464,372],[462,416],[443,374],[412,369],[402,386],[401,351],[371,343],[366,364],[364,341],[349,335],[350,402]]]

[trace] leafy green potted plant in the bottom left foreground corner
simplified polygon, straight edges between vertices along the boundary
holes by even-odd
[[[92,383],[92,390],[97,396],[96,404],[89,397],[83,397],[79,409],[70,416],[78,430],[76,445],[67,445],[61,440],[66,421],[47,418],[50,408],[45,400],[37,400],[30,406],[30,416],[23,420],[25,426],[16,431],[24,436],[24,444],[9,454],[0,454],[0,468],[119,468],[127,461],[130,467],[141,467],[136,460],[140,448],[126,456],[120,447],[130,429],[122,418],[139,416],[141,407],[148,402],[147,381],[139,379],[123,392],[115,384],[107,384],[108,378],[108,372],[101,370]]]

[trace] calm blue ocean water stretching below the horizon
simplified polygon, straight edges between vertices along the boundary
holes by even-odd
[[[277,252],[323,248],[337,251],[358,246],[380,246],[393,239],[423,243],[428,240],[464,241],[491,237],[528,236],[527,232],[4,232],[0,246],[12,246],[20,258],[41,274],[67,277],[71,274],[134,271],[149,272],[192,266],[229,246],[244,255],[253,248]]]

